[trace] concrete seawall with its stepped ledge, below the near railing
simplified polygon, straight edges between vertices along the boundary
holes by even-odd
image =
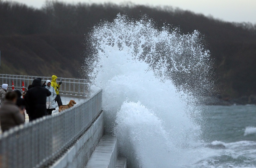
[[[51,168],[126,168],[127,159],[118,157],[118,140],[104,135],[104,112]]]

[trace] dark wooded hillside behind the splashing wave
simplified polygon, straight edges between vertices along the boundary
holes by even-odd
[[[256,95],[256,25],[228,23],[172,7],[125,4],[65,4],[47,2],[42,9],[0,0],[0,73],[86,77],[85,35],[101,21],[125,14],[146,14],[159,29],[164,23],[182,33],[198,30],[214,58],[222,97]]]

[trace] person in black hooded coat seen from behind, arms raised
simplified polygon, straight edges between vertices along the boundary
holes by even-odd
[[[50,91],[42,87],[40,79],[34,79],[32,86],[24,96],[29,121],[46,115],[46,97],[51,95]]]

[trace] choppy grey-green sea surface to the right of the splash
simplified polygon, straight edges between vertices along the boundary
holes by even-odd
[[[190,167],[256,167],[256,106],[205,106],[202,138],[212,156]],[[224,147],[224,148],[223,148]]]

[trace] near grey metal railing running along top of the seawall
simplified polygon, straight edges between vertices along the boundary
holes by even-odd
[[[48,167],[86,132],[101,106],[102,90],[62,113],[5,131],[0,135],[0,168]]]

